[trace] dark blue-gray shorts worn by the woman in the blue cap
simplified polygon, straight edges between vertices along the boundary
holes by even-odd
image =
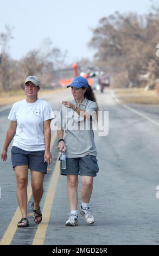
[[[61,169],[61,175],[79,174],[84,176],[97,176],[99,172],[96,156],[87,155],[84,157],[67,158],[66,169]]]

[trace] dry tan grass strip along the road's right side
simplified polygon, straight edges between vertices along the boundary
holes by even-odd
[[[115,95],[123,103],[159,104],[156,90],[145,91],[144,88],[114,89]]]

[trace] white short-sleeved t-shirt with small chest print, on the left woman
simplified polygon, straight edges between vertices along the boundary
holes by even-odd
[[[8,116],[11,121],[17,121],[12,145],[25,151],[44,150],[43,121],[53,118],[54,113],[47,101],[37,99],[33,103],[26,100],[16,102]]]

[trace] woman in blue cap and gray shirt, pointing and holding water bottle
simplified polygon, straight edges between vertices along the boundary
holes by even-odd
[[[86,78],[75,77],[67,87],[71,87],[74,99],[62,101],[61,124],[58,124],[58,149],[66,150],[66,169],[61,168],[61,175],[67,175],[68,184],[70,216],[66,225],[78,225],[78,175],[82,176],[80,214],[84,216],[87,224],[92,224],[94,217],[90,209],[90,199],[93,177],[99,171],[92,120],[98,106]]]

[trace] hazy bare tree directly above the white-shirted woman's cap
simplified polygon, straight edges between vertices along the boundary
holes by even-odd
[[[24,76],[37,75],[43,87],[50,87],[55,80],[54,70],[65,64],[66,52],[62,53],[53,42],[47,38],[39,49],[30,51],[21,60]]]

